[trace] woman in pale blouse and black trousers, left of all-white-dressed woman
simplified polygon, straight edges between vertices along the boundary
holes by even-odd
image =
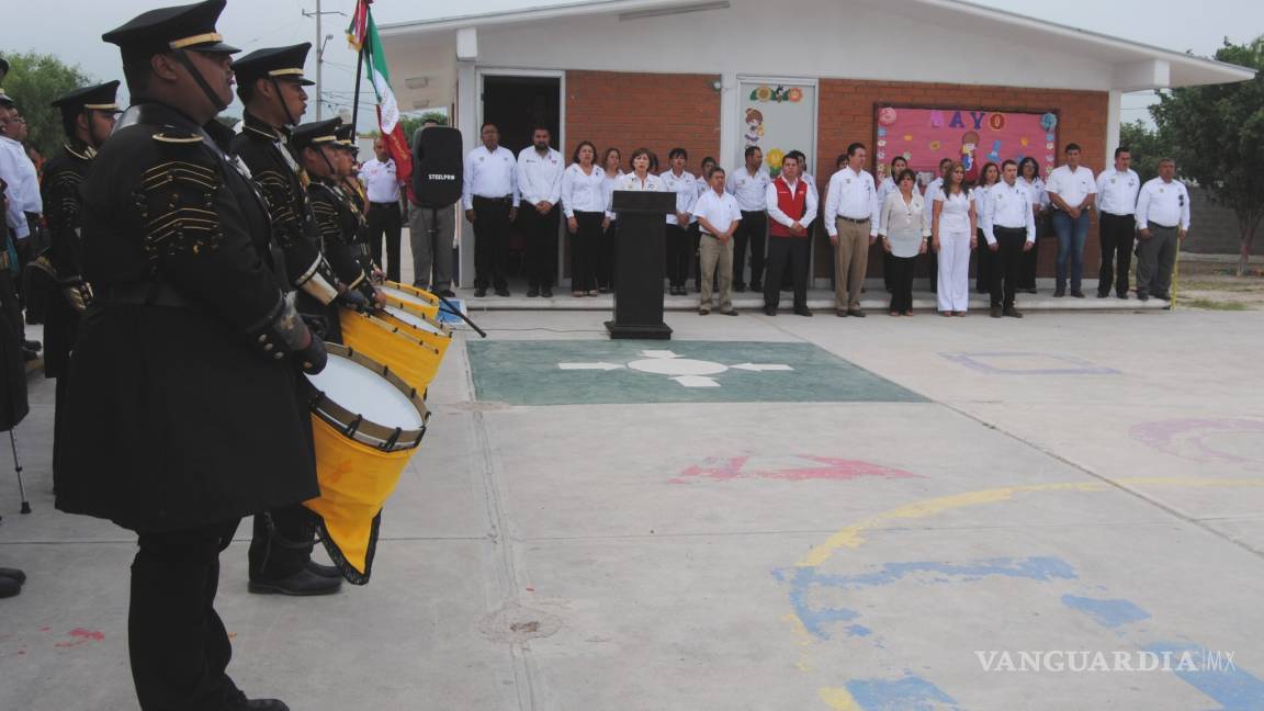
[[[882,250],[890,257],[886,263],[891,277],[891,315],[911,316],[913,269],[918,254],[927,253],[930,225],[921,194],[915,189],[918,175],[905,168],[895,177],[899,180],[896,190],[887,192],[882,201],[878,235]]]

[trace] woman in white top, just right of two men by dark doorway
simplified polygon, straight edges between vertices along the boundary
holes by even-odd
[[[597,245],[605,216],[605,171],[597,167],[597,147],[581,140],[561,173],[561,206],[570,233],[570,294],[597,296]]]

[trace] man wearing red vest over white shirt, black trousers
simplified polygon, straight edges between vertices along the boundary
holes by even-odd
[[[777,315],[781,277],[790,266],[794,282],[794,312],[808,310],[808,264],[811,254],[811,221],[817,219],[817,192],[801,180],[806,157],[799,151],[781,159],[781,175],[769,183],[763,202],[769,211],[769,268],[763,281],[763,312]]]

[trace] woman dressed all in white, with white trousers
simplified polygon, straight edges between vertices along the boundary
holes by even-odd
[[[935,195],[930,240],[939,253],[939,314],[964,316],[969,309],[969,252],[977,247],[975,201],[966,191],[966,168],[953,163]]]

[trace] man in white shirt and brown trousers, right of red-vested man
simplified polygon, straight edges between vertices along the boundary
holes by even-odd
[[[834,312],[839,316],[865,316],[861,287],[878,226],[877,187],[865,171],[866,158],[863,143],[848,145],[847,166],[829,178],[825,192],[825,229],[834,245]]]

